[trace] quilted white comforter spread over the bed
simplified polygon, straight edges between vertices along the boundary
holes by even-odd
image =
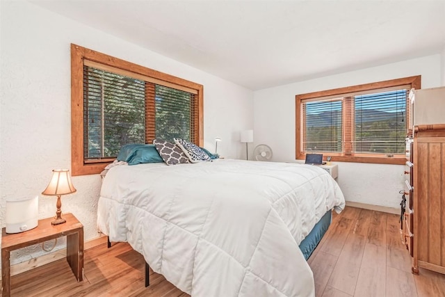
[[[333,207],[343,194],[316,166],[154,163],[109,170],[97,221],[192,296],[314,296],[298,245]]]

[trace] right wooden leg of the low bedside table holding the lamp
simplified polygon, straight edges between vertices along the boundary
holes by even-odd
[[[67,262],[78,282],[83,280],[83,230],[67,235]]]

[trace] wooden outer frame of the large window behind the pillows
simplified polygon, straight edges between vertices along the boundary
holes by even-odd
[[[181,90],[193,91],[198,100],[197,145],[204,144],[204,86],[170,74],[165,74],[128,61],[71,44],[71,170],[72,175],[93,175],[104,170],[115,159],[86,161],[83,159],[83,65],[96,63],[110,69],[119,70],[120,74],[140,75],[152,82]]]

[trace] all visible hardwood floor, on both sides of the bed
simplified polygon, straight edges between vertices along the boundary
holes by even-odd
[[[401,242],[398,216],[346,207],[312,256],[318,297],[445,296],[445,275],[422,269],[411,273]],[[150,271],[144,287],[144,260],[127,243],[85,252],[83,282],[65,259],[15,275],[12,296],[172,296],[186,297],[162,275]]]

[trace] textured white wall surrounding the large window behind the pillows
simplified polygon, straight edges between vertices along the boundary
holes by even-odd
[[[147,36],[150,38],[150,36]],[[71,165],[70,43],[204,85],[204,147],[242,157],[239,131],[253,126],[251,90],[178,63],[25,1],[1,1],[0,219],[6,199],[40,195],[54,168]],[[63,212],[97,237],[99,175],[73,177],[77,192],[62,198]],[[56,199],[40,195],[39,216],[54,216]],[[60,248],[60,245],[59,245]],[[35,251],[30,255],[30,251]],[[20,250],[12,262],[41,252]]]

